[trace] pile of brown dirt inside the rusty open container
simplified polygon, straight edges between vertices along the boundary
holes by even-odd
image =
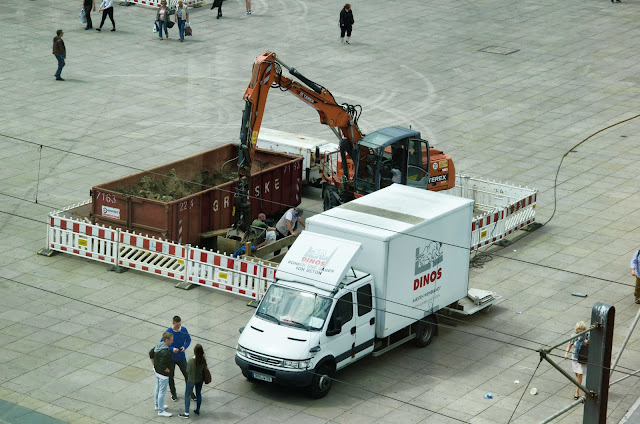
[[[160,176],[145,175],[140,178],[138,184],[118,187],[115,191],[129,196],[144,197],[161,202],[172,202],[210,187],[215,187],[228,181],[235,181],[237,178],[238,174],[236,172],[222,174],[220,172],[209,172],[207,169],[201,169],[195,173],[190,181],[185,181],[178,178],[176,170],[172,168],[169,173],[162,178]]]

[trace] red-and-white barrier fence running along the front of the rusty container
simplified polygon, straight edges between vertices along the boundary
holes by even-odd
[[[90,202],[50,214],[49,249],[258,300],[275,280],[275,268],[263,263],[93,225],[73,217],[73,209]]]

